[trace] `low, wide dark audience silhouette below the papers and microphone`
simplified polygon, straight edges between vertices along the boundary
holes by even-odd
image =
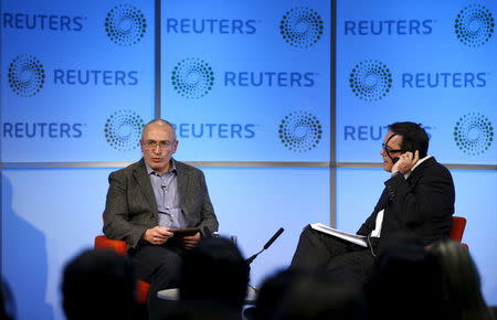
[[[255,319],[369,319],[360,288],[338,273],[288,269],[266,279],[257,297]]]

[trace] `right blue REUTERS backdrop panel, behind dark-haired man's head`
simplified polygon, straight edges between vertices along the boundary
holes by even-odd
[[[338,1],[337,161],[421,122],[445,163],[497,163],[495,1]]]

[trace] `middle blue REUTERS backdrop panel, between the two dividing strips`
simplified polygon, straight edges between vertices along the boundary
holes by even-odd
[[[162,116],[190,161],[329,161],[330,1],[162,1]]]

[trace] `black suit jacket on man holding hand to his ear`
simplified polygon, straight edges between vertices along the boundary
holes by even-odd
[[[427,245],[448,236],[454,214],[454,182],[451,172],[435,158],[423,161],[408,179],[395,174],[384,184],[374,211],[358,234],[370,234],[378,213],[384,209],[380,252],[400,239]]]

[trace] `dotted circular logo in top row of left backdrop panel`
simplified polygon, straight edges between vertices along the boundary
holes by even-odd
[[[119,45],[133,45],[140,41],[147,30],[144,13],[133,6],[119,4],[105,18],[105,32]]]

